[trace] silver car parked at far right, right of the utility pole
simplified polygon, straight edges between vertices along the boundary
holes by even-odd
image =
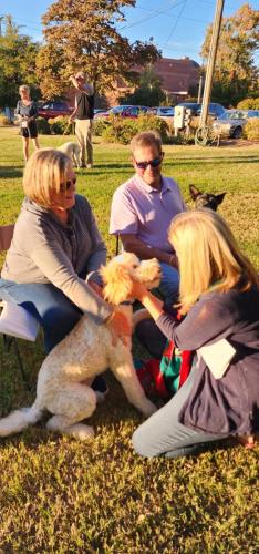
[[[224,116],[214,122],[213,127],[224,136],[240,138],[250,117],[259,117],[259,110],[226,110]]]

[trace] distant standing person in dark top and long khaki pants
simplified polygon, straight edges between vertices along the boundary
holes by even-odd
[[[81,147],[81,167],[90,170],[93,167],[92,129],[94,89],[85,82],[85,75],[82,71],[76,73],[76,75],[72,75],[70,81],[77,90],[74,111],[71,114],[70,121],[75,121],[75,135]]]

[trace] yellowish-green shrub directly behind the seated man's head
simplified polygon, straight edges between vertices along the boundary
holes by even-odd
[[[102,137],[106,142],[128,144],[136,133],[143,131],[158,131],[162,140],[167,141],[169,130],[166,121],[155,115],[139,115],[135,120],[111,116],[105,123]]]

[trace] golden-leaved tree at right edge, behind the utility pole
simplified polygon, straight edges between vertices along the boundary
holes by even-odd
[[[248,3],[230,18],[224,18],[218,44],[211,99],[236,104],[258,90],[258,69],[253,54],[258,48],[259,12]],[[208,59],[213,25],[207,28],[201,57]]]

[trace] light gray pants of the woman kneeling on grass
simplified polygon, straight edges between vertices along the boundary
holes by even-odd
[[[178,422],[178,413],[190,392],[198,368],[194,366],[188,379],[173,399],[135,431],[133,447],[138,454],[145,458],[162,454],[167,458],[180,458],[208,450],[208,443],[226,439],[227,435],[194,431]]]

